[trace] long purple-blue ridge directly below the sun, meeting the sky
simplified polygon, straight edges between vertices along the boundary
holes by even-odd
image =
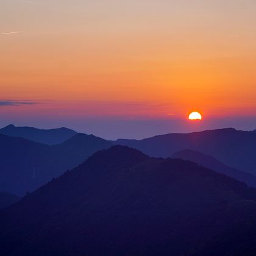
[[[194,133],[170,133],[144,140],[117,140],[154,157],[170,157],[177,151],[191,149],[211,155],[227,166],[256,175],[256,133],[235,129]]]

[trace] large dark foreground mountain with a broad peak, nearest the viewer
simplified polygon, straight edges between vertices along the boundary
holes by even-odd
[[[2,210],[1,253],[255,255],[255,216],[244,183],[114,146]]]

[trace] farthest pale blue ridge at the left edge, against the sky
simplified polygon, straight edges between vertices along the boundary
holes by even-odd
[[[76,135],[74,130],[67,128],[59,129],[36,129],[34,127],[15,127],[12,124],[0,129],[0,133],[10,137],[21,137],[38,143],[54,145],[60,144]]]

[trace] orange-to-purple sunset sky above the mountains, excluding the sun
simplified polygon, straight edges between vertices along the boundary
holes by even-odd
[[[255,13],[254,0],[1,0],[0,126],[256,129]],[[204,121],[188,123],[194,110]]]

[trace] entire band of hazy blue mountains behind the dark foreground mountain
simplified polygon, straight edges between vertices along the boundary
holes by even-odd
[[[16,133],[12,132],[13,136],[19,134],[23,137],[33,137],[34,140],[34,135],[37,134],[37,140],[44,141],[42,144],[0,134],[0,188],[2,191],[21,196],[27,191],[35,190],[53,177],[59,177],[90,155],[101,149],[110,148],[113,144],[130,146],[152,157],[171,157],[175,152],[183,151],[182,155],[174,155],[174,157],[197,162],[253,187],[256,184],[255,176],[246,173],[251,172],[256,175],[255,132],[221,129],[196,133],[170,133],[140,141],[107,141],[66,128],[38,130],[32,127],[13,127],[10,125],[4,130],[5,132],[9,130],[9,133],[11,130],[16,130]],[[29,131],[32,131],[31,135]],[[58,132],[62,135],[57,136],[55,142],[60,141],[61,137],[65,140],[73,133],[74,136],[60,144],[55,144],[53,140],[51,143],[54,145],[45,144],[46,139],[49,143],[52,134]],[[185,154],[184,150],[187,149],[190,153],[201,152],[201,155]]]

